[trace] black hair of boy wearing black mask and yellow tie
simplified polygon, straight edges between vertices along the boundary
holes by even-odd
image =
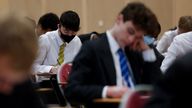
[[[66,11],[62,13],[60,17],[60,23],[62,26],[69,30],[78,31],[80,25],[80,18],[76,12]]]

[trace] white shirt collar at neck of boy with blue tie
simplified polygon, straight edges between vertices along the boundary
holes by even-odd
[[[111,48],[112,53],[114,53],[114,54],[117,53],[118,49],[120,48],[119,44],[117,43],[115,38],[112,36],[112,34],[109,30],[107,30],[106,34],[107,34],[109,46]]]

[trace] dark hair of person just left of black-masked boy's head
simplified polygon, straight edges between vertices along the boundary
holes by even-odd
[[[54,13],[46,13],[39,18],[38,24],[43,30],[51,29],[57,30],[59,24],[59,17]]]

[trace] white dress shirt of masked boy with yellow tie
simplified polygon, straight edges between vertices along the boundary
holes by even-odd
[[[51,68],[57,65],[60,45],[63,44],[58,30],[47,32],[39,37],[39,52],[33,66],[34,72],[48,73]],[[64,48],[64,63],[72,62],[79,49],[81,41],[78,36],[66,43]]]

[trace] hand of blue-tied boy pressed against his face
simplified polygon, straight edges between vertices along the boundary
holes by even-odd
[[[145,44],[142,37],[142,38],[136,38],[136,40],[131,45],[131,49],[142,52],[147,49],[150,49],[150,47],[147,44]]]

